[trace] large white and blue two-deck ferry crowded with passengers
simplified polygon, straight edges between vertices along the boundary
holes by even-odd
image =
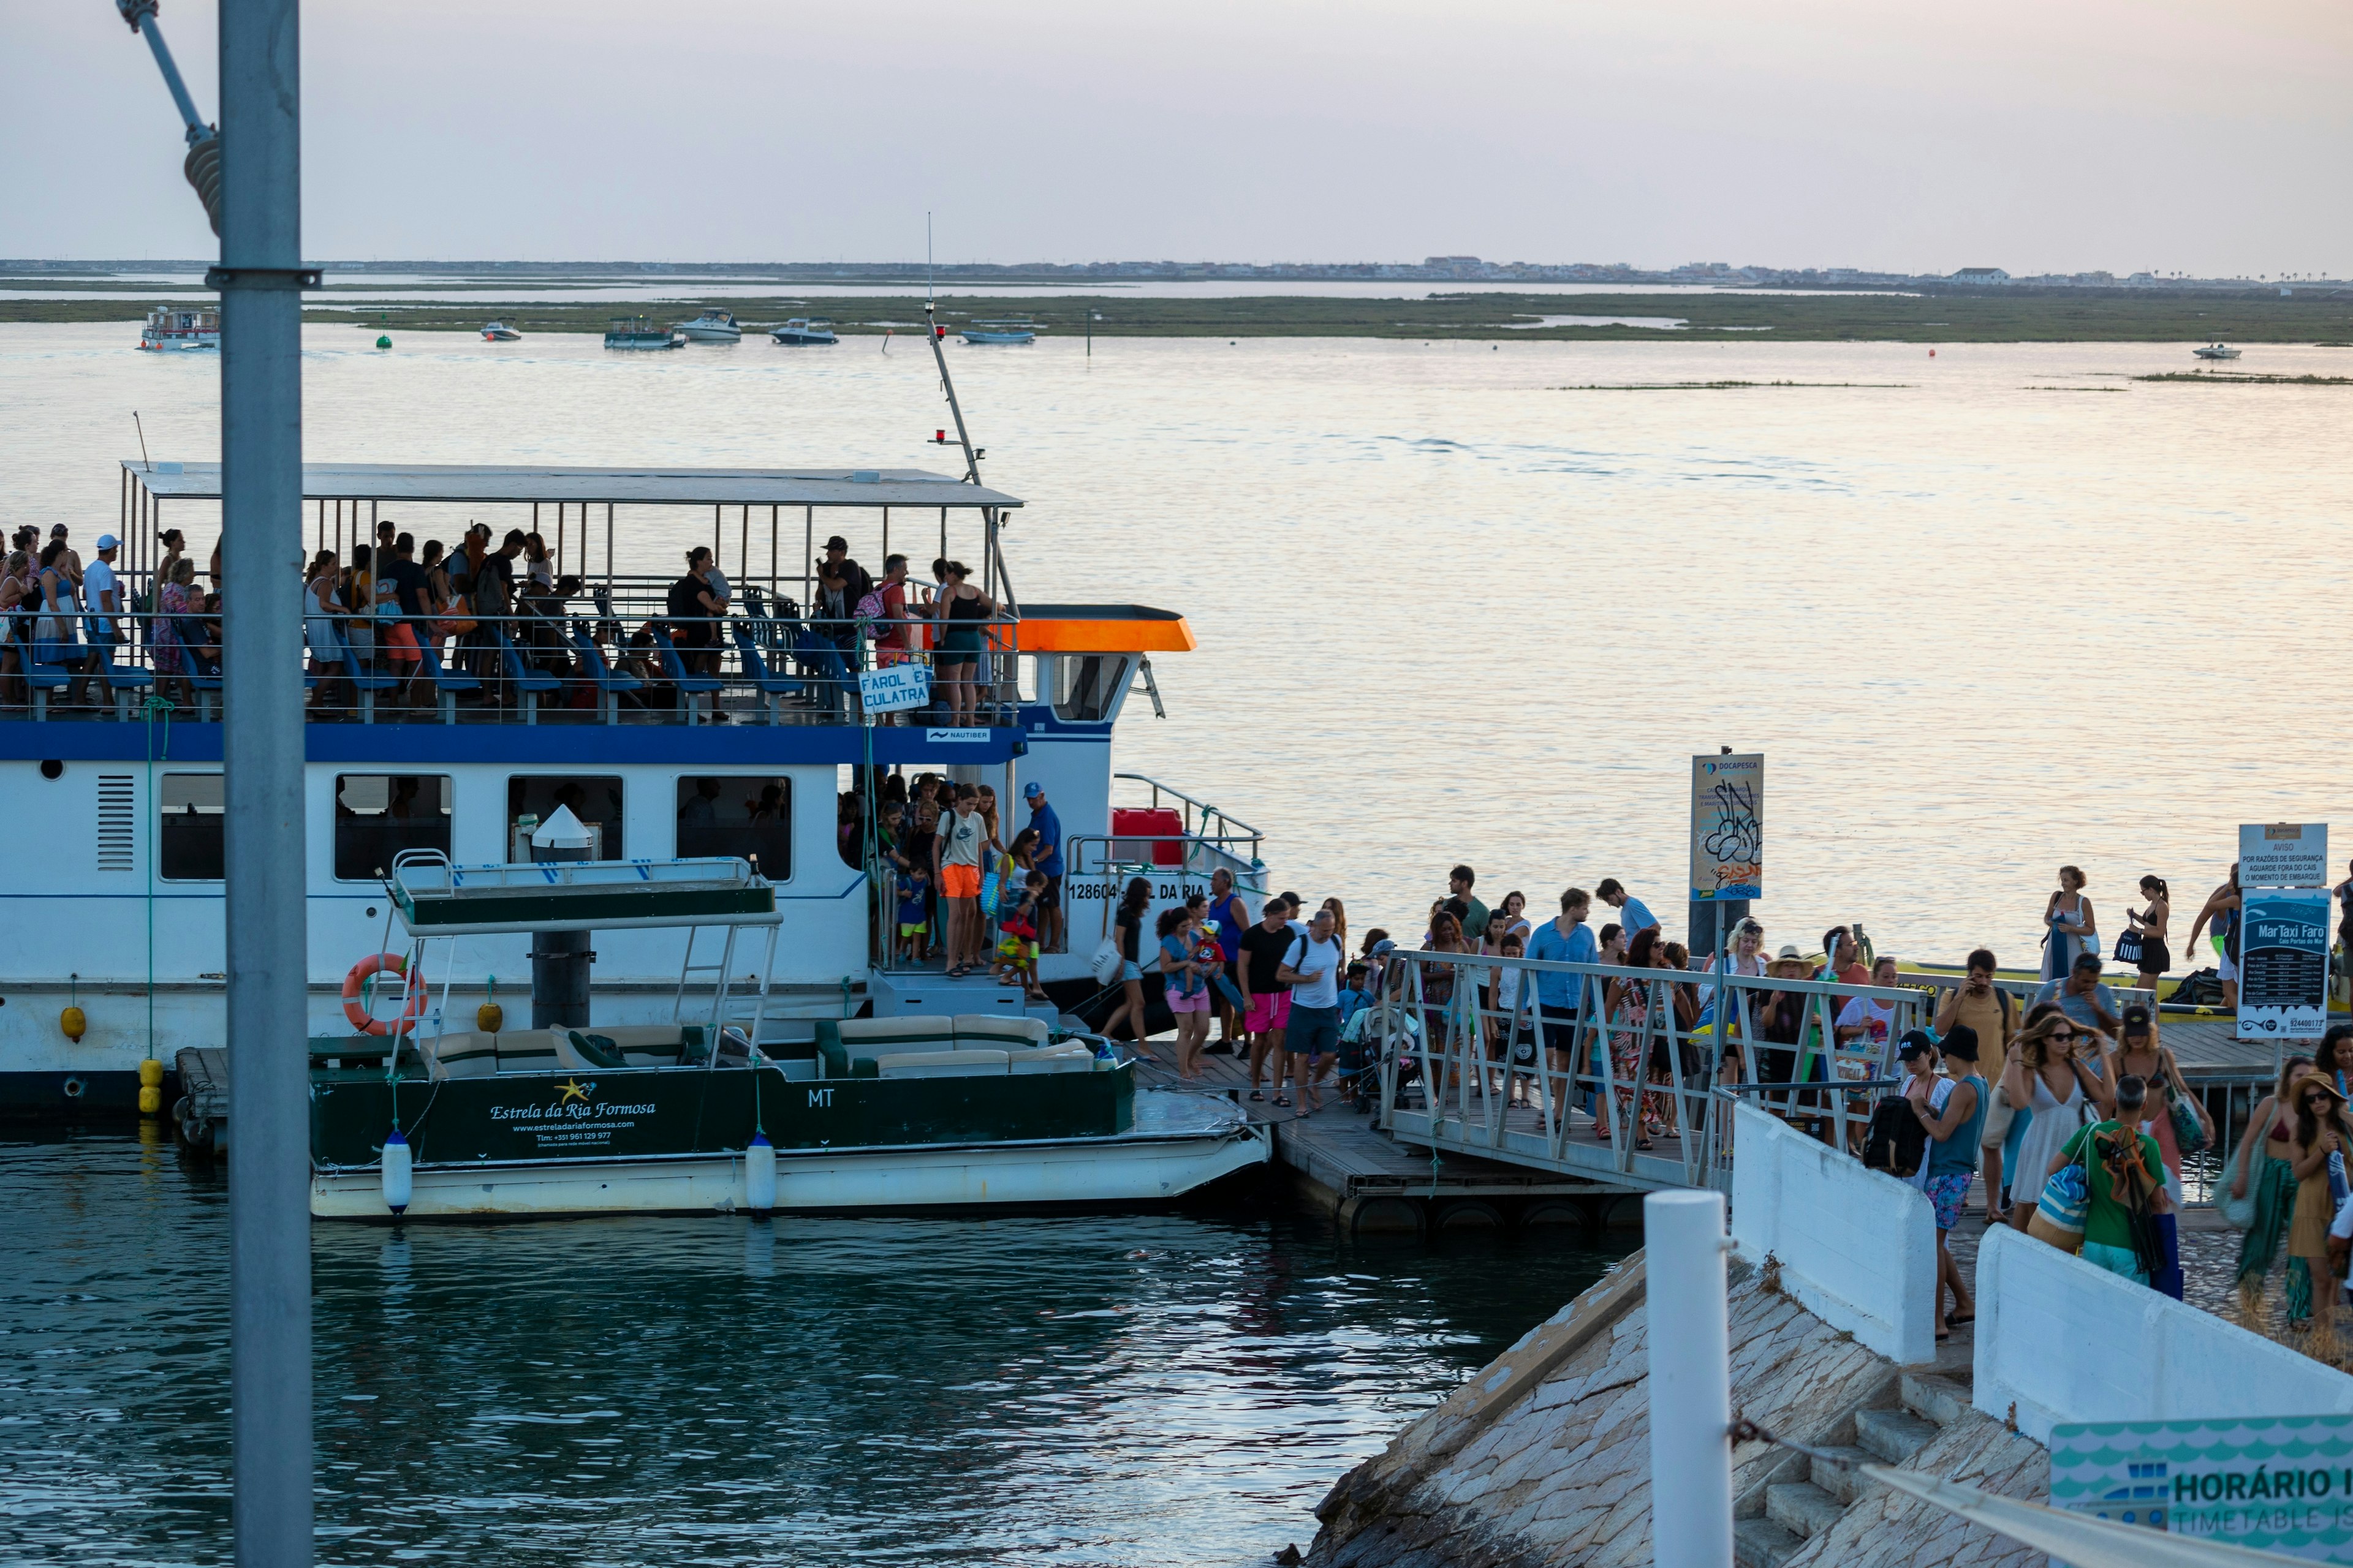
[[[132,458],[120,482],[129,541],[155,538],[167,520],[200,531],[219,515],[219,463]],[[1193,646],[1184,616],[1016,599],[1000,548],[1016,496],[911,468],[384,463],[306,463],[304,496],[313,548],[348,555],[379,515],[414,527],[419,543],[435,531],[421,517],[454,517],[445,538],[482,520],[494,538],[539,529],[558,585],[576,590],[525,599],[456,639],[426,628],[414,665],[384,663],[327,621],[311,628],[322,670],[306,715],[301,849],[313,1037],[351,1030],[346,978],[388,945],[388,875],[405,851],[527,860],[527,830],[558,806],[591,830],[600,863],[727,856],[758,867],[781,910],[772,1011],[786,1023],[772,1034],[791,1025],[809,1039],[816,1020],[845,1016],[1028,1016],[1019,983],[951,980],[936,959],[908,961],[873,919],[894,865],[882,835],[854,823],[878,823],[880,802],[920,773],[991,785],[1007,837],[1028,825],[1028,785],[1059,818],[1064,922],[1038,954],[1059,1004],[1038,1004],[1049,1025],[1064,1009],[1085,1016],[1101,990],[1094,961],[1129,877],[1148,879],[1148,919],[1219,867],[1245,896],[1266,889],[1254,827],[1113,769],[1129,698],[1141,689],[1158,708],[1151,658]],[[885,675],[878,656],[929,670],[932,623],[889,628],[896,646],[878,649],[856,625],[805,614],[814,545],[831,534],[875,564],[892,550],[979,562],[972,581],[1002,614],[967,623],[984,651],[960,710],[946,691],[896,712],[880,693],[875,710],[861,708],[861,677]],[[668,614],[671,578],[619,569],[654,541],[711,538],[734,592],[725,618],[682,623]],[[151,569],[122,562],[132,595]],[[918,588],[911,602],[922,599]],[[19,649],[24,675],[0,677],[0,703],[12,703],[0,705],[0,790],[54,851],[0,889],[12,931],[0,952],[0,1114],[134,1114],[141,1063],[155,1074],[181,1048],[224,1046],[219,623],[200,611],[122,618],[127,639],[94,672],[92,705],[66,705],[66,661],[82,649]],[[595,947],[598,1030],[673,1020],[682,933],[612,929]],[[454,969],[435,973],[435,999],[466,1016],[522,994],[529,973],[527,936],[468,938]],[[176,1100],[176,1084],[148,1084],[158,1091],[165,1107]]]

